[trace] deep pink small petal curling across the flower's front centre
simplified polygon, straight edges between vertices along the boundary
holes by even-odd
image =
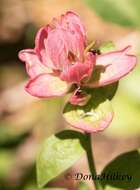
[[[78,83],[85,77],[90,77],[92,74],[93,66],[95,64],[95,56],[88,53],[85,63],[77,62],[64,70],[60,78],[68,83]]]

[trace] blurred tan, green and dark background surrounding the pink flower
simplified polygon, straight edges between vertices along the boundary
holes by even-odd
[[[117,48],[132,45],[139,57],[139,0],[0,0],[0,190],[37,190],[35,159],[40,143],[70,127],[61,116],[62,98],[42,101],[24,91],[27,75],[17,57],[19,50],[34,46],[39,27],[66,10],[79,13],[89,42],[113,41]],[[98,172],[120,153],[140,147],[139,64],[120,82],[112,103],[111,126],[93,134]],[[86,158],[68,172],[76,171],[88,172]],[[76,181],[63,176],[49,186],[78,189]]]

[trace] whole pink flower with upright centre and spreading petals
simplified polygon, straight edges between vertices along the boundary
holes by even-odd
[[[26,91],[41,98],[57,97],[68,93],[74,84],[69,102],[84,106],[90,95],[79,91],[80,87],[97,88],[114,83],[136,65],[136,57],[128,54],[130,46],[101,55],[87,52],[86,46],[86,32],[77,14],[69,11],[59,20],[54,18],[37,33],[34,49],[19,52],[30,77]],[[108,113],[98,129],[92,129],[83,121],[74,126],[87,132],[100,131],[112,118],[113,113]]]

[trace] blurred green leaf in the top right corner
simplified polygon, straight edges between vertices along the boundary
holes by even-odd
[[[140,26],[139,0],[84,0],[98,15],[122,26]]]

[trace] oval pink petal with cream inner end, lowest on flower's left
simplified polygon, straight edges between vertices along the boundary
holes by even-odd
[[[63,96],[68,90],[68,85],[57,76],[44,73],[31,79],[25,89],[32,96],[50,98]]]

